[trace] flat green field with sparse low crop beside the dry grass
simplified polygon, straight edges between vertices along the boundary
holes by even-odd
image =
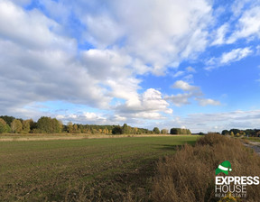
[[[0,142],[0,201],[145,201],[156,162],[197,138]]]

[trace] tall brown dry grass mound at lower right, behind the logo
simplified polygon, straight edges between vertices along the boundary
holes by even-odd
[[[153,201],[218,201],[214,196],[215,169],[230,161],[230,175],[260,176],[260,158],[239,140],[210,133],[192,147],[185,145],[158,163]],[[260,201],[260,186],[247,186],[246,201]]]

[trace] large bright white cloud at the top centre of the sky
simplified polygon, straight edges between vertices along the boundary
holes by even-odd
[[[142,62],[139,67],[150,64],[146,70],[153,74],[162,75],[167,65],[196,57],[208,43],[211,6],[207,1],[116,0],[102,4],[102,8],[99,1],[72,4],[87,27],[85,40],[102,49],[121,47]],[[86,12],[86,6],[93,9]]]

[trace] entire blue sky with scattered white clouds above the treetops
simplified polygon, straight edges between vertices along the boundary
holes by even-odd
[[[0,0],[0,115],[260,128],[259,0]]]

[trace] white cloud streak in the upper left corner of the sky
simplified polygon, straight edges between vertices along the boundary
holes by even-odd
[[[52,31],[59,24],[38,10],[24,12],[9,1],[0,2],[0,32],[5,39],[23,45],[25,49],[62,49],[75,51],[75,41]]]

